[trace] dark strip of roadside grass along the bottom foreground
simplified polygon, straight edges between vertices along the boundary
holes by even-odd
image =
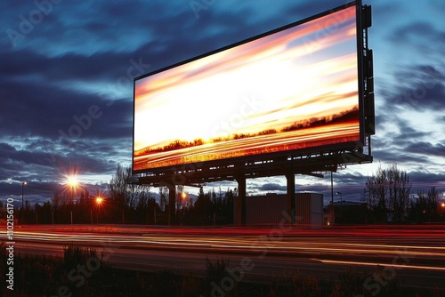
[[[0,244],[0,294],[9,296],[6,289],[6,252]],[[352,269],[321,280],[298,269],[285,270],[281,276],[271,276],[269,282],[234,282],[231,290],[216,290],[224,277],[230,277],[230,260],[206,259],[206,275],[198,277],[190,271],[161,269],[156,272],[115,269],[96,261],[94,249],[69,245],[63,257],[20,255],[14,257],[13,296],[171,296],[171,297],[281,297],[281,296],[427,296],[445,295],[443,288],[409,288],[394,278],[378,293],[367,290],[366,280],[371,275]],[[94,263],[94,265],[93,265]],[[375,273],[378,273],[376,269]],[[247,276],[248,273],[246,273]]]

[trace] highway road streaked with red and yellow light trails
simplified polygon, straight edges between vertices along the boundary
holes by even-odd
[[[370,282],[397,278],[401,285],[445,290],[443,225],[323,229],[25,226],[15,229],[14,240],[15,253],[61,256],[66,245],[92,246],[102,261],[116,268],[183,269],[201,276],[207,257],[222,257],[230,259],[232,268],[244,263],[246,280],[262,282],[282,276],[286,269],[335,279],[350,269],[372,275],[378,265],[384,279],[376,276]]]

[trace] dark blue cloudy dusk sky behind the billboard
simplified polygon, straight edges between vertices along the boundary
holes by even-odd
[[[27,181],[26,198],[46,201],[72,172],[90,192],[105,190],[117,164],[131,164],[134,76],[344,3],[0,2],[0,197],[21,197]],[[335,173],[335,191],[358,200],[368,174],[394,162],[416,189],[445,191],[445,2],[364,4],[373,7],[375,162]],[[295,181],[330,200],[329,175]],[[247,181],[251,195],[285,186],[283,177]]]

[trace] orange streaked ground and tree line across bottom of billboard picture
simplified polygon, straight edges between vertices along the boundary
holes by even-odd
[[[134,152],[134,170],[247,157],[356,141],[360,138],[358,107],[323,118],[310,118],[257,133],[234,133],[224,138],[174,140],[158,148]],[[147,159],[148,157],[148,159]]]

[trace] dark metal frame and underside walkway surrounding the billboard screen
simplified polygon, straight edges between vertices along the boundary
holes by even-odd
[[[363,52],[363,27],[362,27],[362,4],[361,0],[355,0],[320,12],[303,20],[297,20],[285,26],[271,29],[263,34],[249,37],[234,44],[229,44],[211,52],[200,54],[196,57],[182,60],[170,66],[159,68],[145,75],[134,77],[135,82],[147,76],[152,76],[171,68],[187,64],[194,60],[202,59],[217,52],[231,49],[240,44],[246,44],[263,36],[292,28],[305,22],[319,19],[333,12],[355,6],[356,7],[356,28],[357,28],[357,59],[358,59],[358,90],[359,90],[359,113],[360,113],[360,140],[351,142],[341,142],[334,145],[324,145],[311,148],[298,148],[279,153],[267,153],[249,157],[232,157],[205,161],[201,163],[187,163],[183,165],[172,165],[150,169],[134,170],[134,123],[133,123],[133,149],[132,149],[132,173],[134,182],[162,186],[165,183],[178,185],[195,185],[212,181],[236,181],[240,175],[245,178],[255,178],[264,176],[284,175],[287,173],[313,175],[320,172],[336,172],[345,165],[371,163],[373,157],[370,154],[370,135],[365,132],[365,87],[364,87],[364,58]],[[368,36],[367,36],[368,37]],[[368,41],[367,41],[368,45]],[[135,97],[134,97],[135,98]],[[135,113],[135,100],[134,111]],[[134,121],[134,117],[133,117]],[[368,138],[368,155],[363,153]]]

